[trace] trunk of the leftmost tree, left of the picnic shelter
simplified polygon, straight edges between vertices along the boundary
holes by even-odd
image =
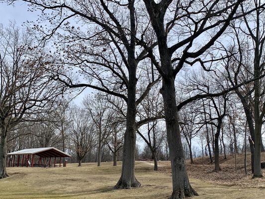
[[[8,177],[6,173],[6,132],[7,128],[2,124],[0,140],[0,179]]]

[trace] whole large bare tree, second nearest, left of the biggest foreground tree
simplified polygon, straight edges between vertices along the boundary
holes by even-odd
[[[41,20],[51,22],[50,32],[41,25],[35,25],[34,29],[43,33],[45,41],[51,38],[56,39],[54,47],[58,48],[55,52],[57,59],[54,64],[59,67],[53,68],[55,80],[70,88],[78,88],[80,91],[92,88],[126,101],[124,159],[121,178],[115,188],[139,187],[141,184],[135,178],[134,162],[136,107],[145,98],[150,88],[160,81],[160,78],[155,75],[154,81],[147,84],[140,96],[136,96],[136,86],[139,82],[138,68],[144,64],[143,60],[147,59],[148,52],[138,47],[137,41],[147,39],[147,43],[150,44],[149,49],[156,45],[153,42],[153,34],[150,33],[148,24],[145,22],[146,16],[136,14],[143,10],[143,7],[138,6],[141,2],[135,2],[135,0],[128,0],[125,3],[116,0],[23,1],[29,2],[32,10],[43,10]],[[136,7],[140,10],[136,11]],[[76,22],[72,25],[71,20],[77,21],[78,25]],[[84,21],[87,27],[83,26]],[[83,31],[84,29],[89,31]],[[66,69],[70,67],[69,73],[62,73],[62,66]],[[82,81],[80,79],[74,81],[70,76],[71,73],[81,74],[84,82],[80,83]]]

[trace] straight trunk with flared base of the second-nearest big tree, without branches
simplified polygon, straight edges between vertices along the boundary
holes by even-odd
[[[130,58],[130,56],[129,56]],[[135,61],[129,59],[130,62]],[[136,63],[129,67],[128,100],[126,131],[124,134],[123,156],[121,177],[115,189],[131,189],[131,187],[140,187],[141,184],[135,178],[135,144],[136,144]]]

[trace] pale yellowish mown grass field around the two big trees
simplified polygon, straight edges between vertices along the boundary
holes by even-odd
[[[121,163],[69,164],[66,168],[7,168],[10,177],[0,180],[0,199],[167,199],[171,176],[154,172],[153,166],[136,162],[136,177],[142,186],[113,190]],[[265,199],[265,189],[214,185],[190,179],[200,195],[194,199]]]

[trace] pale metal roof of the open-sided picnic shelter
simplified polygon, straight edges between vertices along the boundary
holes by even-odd
[[[45,148],[33,148],[33,149],[23,149],[20,151],[15,151],[8,153],[7,155],[25,155],[25,154],[34,154],[42,158],[49,157],[71,157],[71,155],[60,151],[54,147],[45,147]]]

